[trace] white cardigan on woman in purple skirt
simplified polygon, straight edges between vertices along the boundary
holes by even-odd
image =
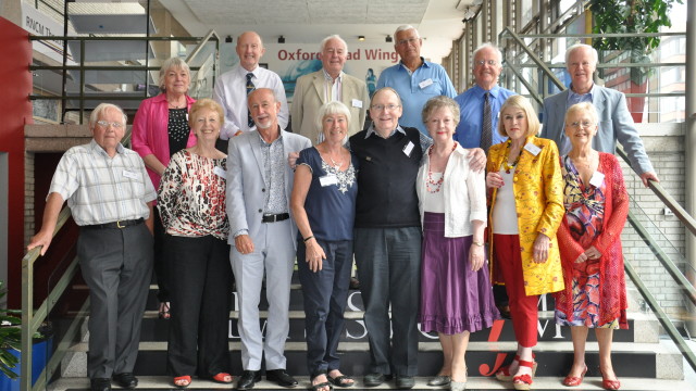
[[[433,148],[433,147],[431,147]],[[418,206],[421,212],[421,225],[423,224],[423,197],[427,181],[431,160],[428,151],[425,152],[424,164],[418,171],[415,192],[418,193]],[[486,181],[485,173],[474,173],[469,167],[468,152],[457,144],[449,156],[445,168],[445,180],[440,191],[445,198],[445,237],[458,238],[473,235],[472,220],[482,220],[484,227],[487,220],[486,211]]]

